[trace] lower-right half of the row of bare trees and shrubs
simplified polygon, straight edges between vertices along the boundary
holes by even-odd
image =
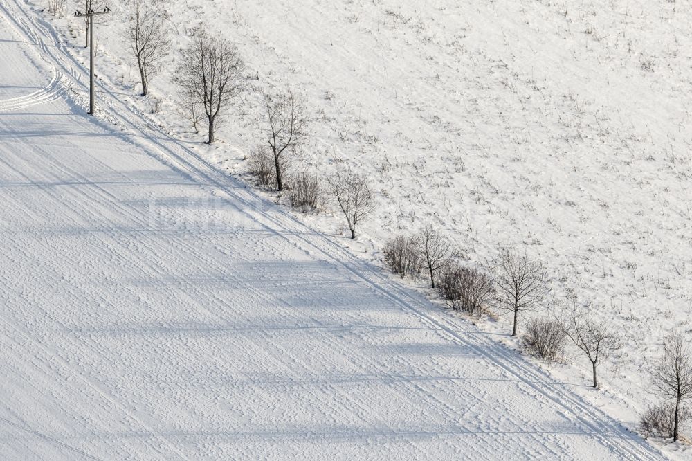
[[[439,291],[450,306],[469,314],[491,308],[512,316],[512,336],[518,334],[518,320],[541,307],[549,293],[542,264],[525,253],[503,250],[485,270],[464,266],[455,260],[452,245],[432,226],[412,237],[394,237],[385,245],[385,260],[402,277],[426,271],[430,286]],[[437,285],[436,285],[437,282]],[[595,316],[591,305],[559,306],[552,318],[531,318],[522,338],[528,350],[542,359],[556,360],[572,343],[590,365],[592,386],[597,388],[598,368],[622,343],[617,330],[607,320]],[[646,433],[680,438],[680,426],[692,421],[692,410],[684,406],[692,399],[692,351],[681,332],[664,342],[662,358],[650,368],[653,394],[664,399],[648,408],[641,426]]]

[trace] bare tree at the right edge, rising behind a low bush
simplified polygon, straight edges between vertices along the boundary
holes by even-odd
[[[684,400],[692,398],[692,352],[681,332],[673,332],[664,341],[661,361],[652,371],[655,393],[675,401],[673,441],[680,437],[680,409]]]

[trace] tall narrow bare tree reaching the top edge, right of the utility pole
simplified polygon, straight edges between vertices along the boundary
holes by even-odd
[[[170,53],[166,15],[156,8],[156,3],[156,0],[133,0],[127,26],[127,39],[142,82],[142,96],[147,96],[149,79],[161,71],[162,61]]]

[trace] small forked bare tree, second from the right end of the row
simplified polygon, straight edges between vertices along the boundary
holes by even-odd
[[[591,362],[593,387],[598,388],[597,367],[620,347],[617,334],[605,320],[577,311],[576,305],[572,307],[564,329],[567,337]]]

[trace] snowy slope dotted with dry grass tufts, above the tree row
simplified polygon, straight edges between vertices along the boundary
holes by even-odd
[[[505,245],[539,257],[556,300],[590,301],[621,332],[603,390],[577,392],[635,427],[655,401],[647,369],[662,338],[691,328],[689,1],[161,5],[176,46],[203,24],[236,42],[259,77],[228,116],[226,143],[202,148],[204,158],[244,174],[246,153],[264,142],[257,91],[298,89],[315,114],[302,168],[352,165],[379,192],[354,251],[379,260],[395,233],[435,223],[472,262]],[[199,143],[172,102],[174,58],[152,98],[136,98],[122,39],[127,4],[111,6],[118,20],[100,26],[104,80],[147,113],[163,100],[163,111],[147,116]],[[66,42],[82,43],[80,24],[53,22]],[[338,216],[305,219],[335,237],[343,226]],[[587,381],[588,362],[568,361],[574,366],[552,372]]]

